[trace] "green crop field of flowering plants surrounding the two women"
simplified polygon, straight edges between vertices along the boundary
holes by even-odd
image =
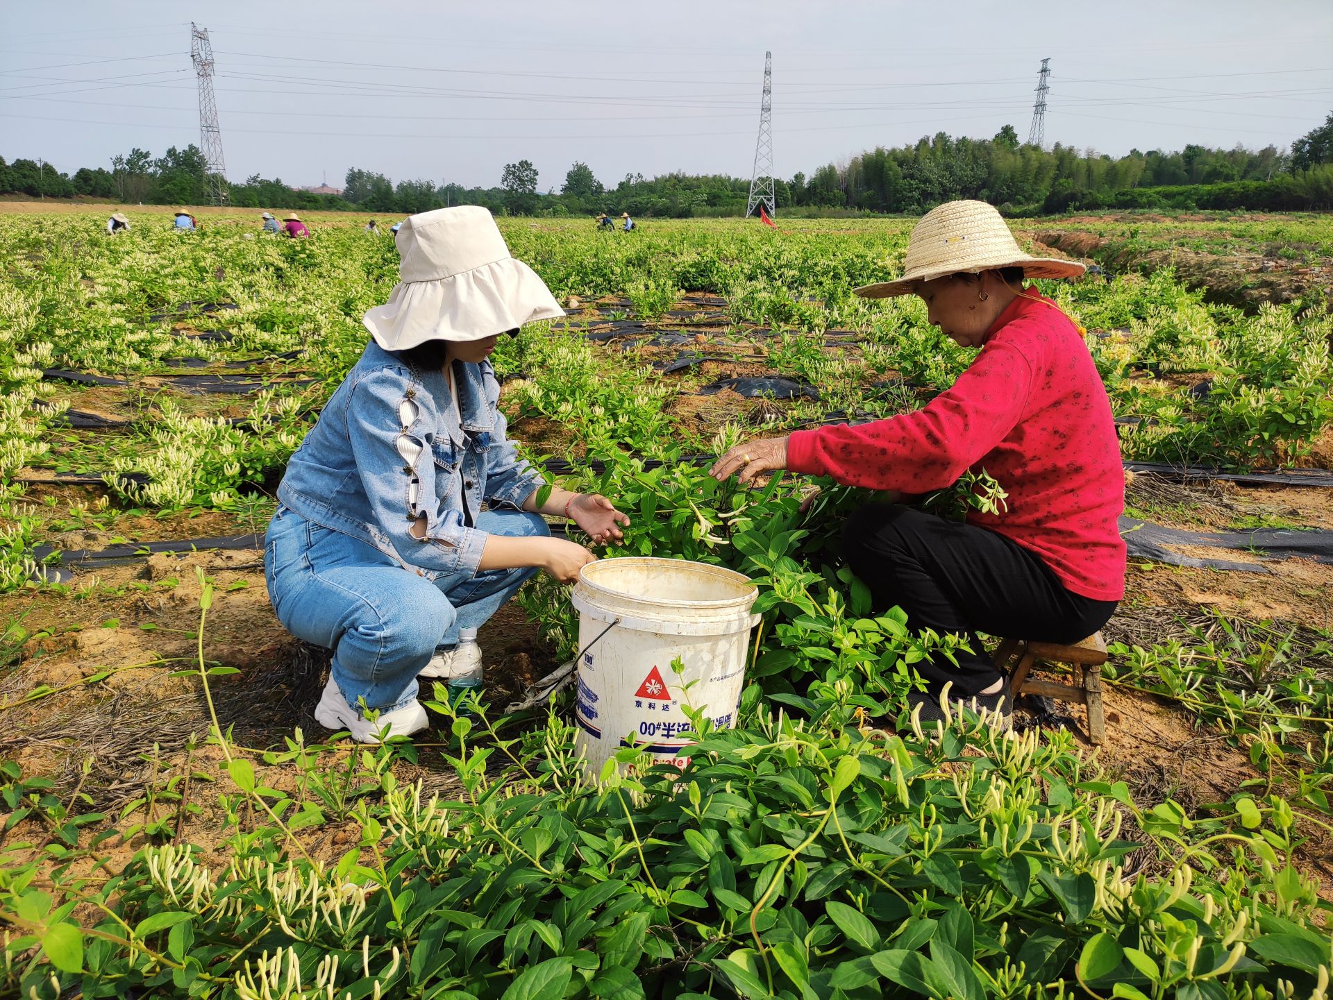
[[[269,609],[273,493],[397,278],[388,236],[131,214],[0,210],[0,996],[1326,996],[1329,217],[1013,224],[1102,262],[1041,290],[1110,395],[1126,538],[1190,533],[1132,547],[1096,748],[1058,702],[913,723],[912,664],[958,639],[841,565],[866,494],[706,474],[968,365],[916,298],[852,294],[912,220],[500,220],[569,310],[497,350],[509,433],[632,517],[608,557],[760,591],[737,727],[599,776],[571,691],[511,708],[576,652],[565,587],[483,628],[481,704],[423,691],[431,731],[383,747],[315,722],[329,654]],[[1220,298],[1185,252],[1305,270]]]

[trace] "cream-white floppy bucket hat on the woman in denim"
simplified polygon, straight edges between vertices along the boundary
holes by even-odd
[[[401,280],[389,301],[361,320],[385,350],[476,341],[565,314],[536,272],[509,256],[484,208],[408,216],[395,242]]]

